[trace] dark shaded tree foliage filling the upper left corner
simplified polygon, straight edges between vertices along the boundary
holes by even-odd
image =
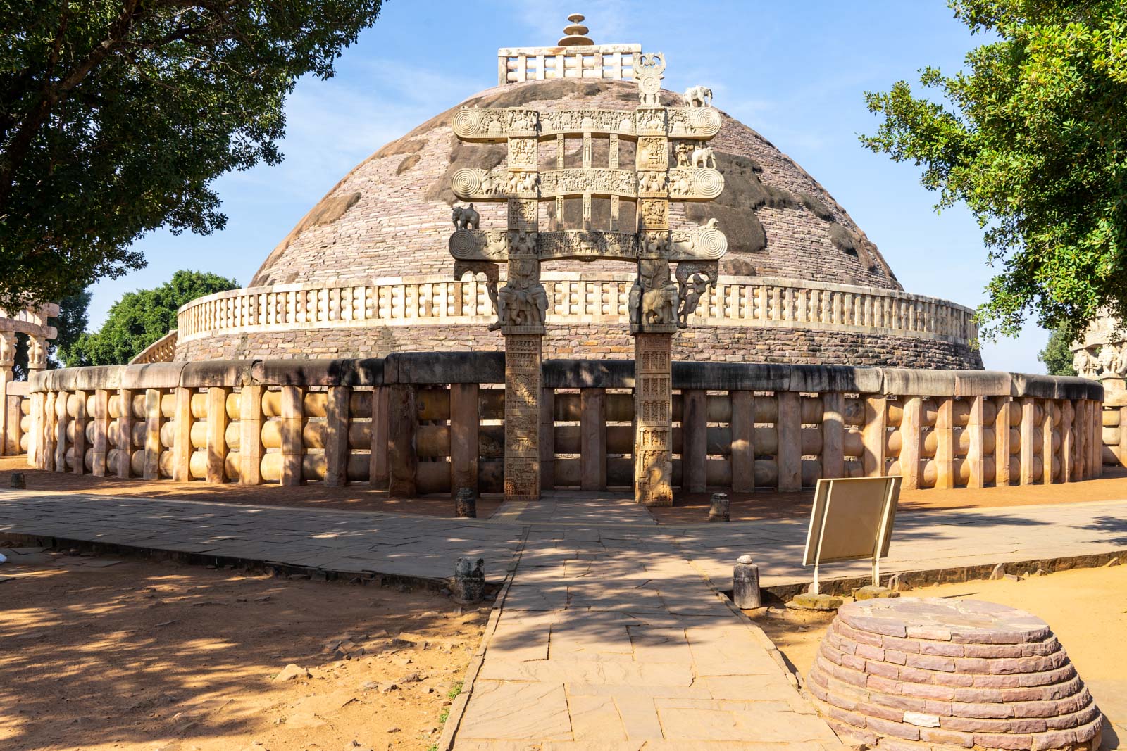
[[[0,0],[0,307],[144,266],[224,226],[211,182],[282,154],[285,97],[380,0]]]

